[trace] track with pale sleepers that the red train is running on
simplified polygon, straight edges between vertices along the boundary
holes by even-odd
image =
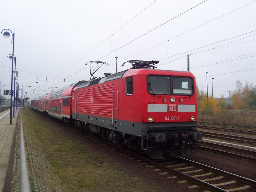
[[[151,160],[148,157],[141,156],[127,149],[118,147],[107,140],[95,137],[92,134],[81,132],[80,130],[67,125],[61,121],[60,123],[69,126],[77,134],[83,134],[85,137],[93,140],[98,145],[101,145],[108,150],[114,151],[119,155],[125,156],[131,161],[138,162],[159,172],[161,175],[166,175],[170,179],[176,179],[178,183],[188,183],[188,190],[196,188],[205,188],[210,191],[239,191],[239,190],[256,190],[256,181],[250,180],[229,172],[225,172],[204,164],[199,164],[188,159],[173,156],[166,160]]]

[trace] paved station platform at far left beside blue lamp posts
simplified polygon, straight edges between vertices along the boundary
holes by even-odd
[[[0,192],[10,192],[13,189],[19,109],[15,117],[12,117],[11,125],[10,109],[0,113]]]

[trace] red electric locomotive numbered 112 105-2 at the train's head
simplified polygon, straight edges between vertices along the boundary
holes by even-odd
[[[73,124],[151,158],[197,150],[202,133],[193,74],[127,62],[133,68],[74,88]]]

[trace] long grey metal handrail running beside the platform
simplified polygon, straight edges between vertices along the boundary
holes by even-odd
[[[20,191],[21,192],[30,191],[21,113],[20,113]]]

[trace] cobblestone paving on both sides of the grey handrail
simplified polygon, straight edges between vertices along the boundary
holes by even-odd
[[[54,181],[59,180],[52,173],[52,165],[43,155],[43,150],[35,143],[31,143],[26,134],[25,148],[28,164],[30,190],[33,192],[62,192]],[[20,135],[17,135],[16,143],[16,168],[14,174],[13,191],[20,191]]]

